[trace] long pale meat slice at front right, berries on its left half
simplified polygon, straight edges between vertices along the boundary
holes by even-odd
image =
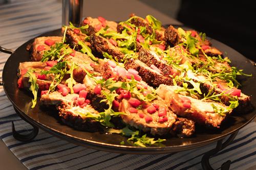
[[[215,113],[212,105],[222,109],[227,109],[227,106],[217,102],[203,102],[175,93],[175,90],[179,88],[179,86],[160,85],[156,92],[160,98],[169,103],[169,107],[177,115],[194,120],[196,123],[209,128],[220,128],[226,116]],[[229,113],[231,111],[226,115]]]

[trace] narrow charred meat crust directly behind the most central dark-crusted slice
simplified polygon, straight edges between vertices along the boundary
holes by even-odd
[[[172,67],[168,64],[161,62],[160,60],[157,60],[154,55],[150,53],[150,51],[145,50],[144,48],[141,48],[139,51],[139,57],[138,59],[145,63],[147,66],[151,66],[152,64],[155,65],[157,68],[159,68],[162,71],[162,74],[164,76],[170,76],[172,75]]]

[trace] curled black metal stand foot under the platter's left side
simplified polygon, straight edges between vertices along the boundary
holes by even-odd
[[[29,123],[20,113],[19,111],[14,107],[14,110],[16,111],[16,113],[23,119],[25,120],[28,124],[30,124],[33,127],[32,132],[30,132],[29,134],[23,135],[23,134],[19,134],[16,130],[15,130],[15,126],[14,123],[12,121],[12,136],[19,141],[31,141],[33,140],[37,134],[39,129],[34,126],[33,124]]]

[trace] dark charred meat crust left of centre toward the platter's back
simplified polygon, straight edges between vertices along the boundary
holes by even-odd
[[[90,42],[91,42],[91,47],[93,51],[96,51],[100,54],[102,54],[103,52],[106,52],[109,55],[112,55],[118,61],[123,60],[124,55],[118,50],[118,48],[112,45],[107,39],[93,34],[90,36]]]

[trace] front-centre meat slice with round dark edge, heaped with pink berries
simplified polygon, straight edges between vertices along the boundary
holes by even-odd
[[[153,103],[166,109],[166,115],[159,116],[159,111],[150,114],[147,112],[146,108],[142,108],[141,110],[138,110],[137,113],[134,113],[131,111],[131,108],[133,108],[131,104],[126,99],[123,99],[119,105],[119,111],[126,113],[125,115],[121,115],[123,122],[144,132],[150,132],[153,135],[164,135],[169,133],[176,121],[176,114],[169,110],[162,100],[155,100]],[[154,106],[151,105],[150,107]]]

